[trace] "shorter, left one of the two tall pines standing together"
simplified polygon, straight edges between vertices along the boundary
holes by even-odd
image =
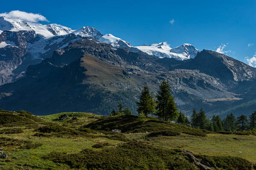
[[[140,94],[140,101],[136,104],[138,107],[138,114],[143,112],[145,116],[148,116],[148,114],[151,114],[152,116],[154,115],[156,104],[153,95],[150,94],[148,86],[144,86],[143,91]]]

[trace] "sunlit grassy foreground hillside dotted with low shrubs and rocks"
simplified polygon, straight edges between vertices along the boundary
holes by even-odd
[[[0,118],[0,155],[7,155],[0,158],[0,168],[5,170],[253,170],[256,164],[252,135],[208,133],[156,118],[93,113],[35,116],[0,111]],[[121,133],[112,132],[114,128]]]

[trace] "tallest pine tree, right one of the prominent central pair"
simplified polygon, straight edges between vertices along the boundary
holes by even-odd
[[[157,116],[165,121],[176,120],[178,116],[170,85],[165,80],[161,83],[157,93]]]

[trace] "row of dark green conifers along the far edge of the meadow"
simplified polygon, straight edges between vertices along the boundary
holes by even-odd
[[[154,95],[149,91],[148,86],[144,86],[139,101],[136,103],[138,116],[157,116],[164,121],[175,121],[176,123],[209,131],[256,129],[256,111],[249,116],[249,119],[243,114],[236,118],[233,113],[230,113],[221,120],[218,115],[213,115],[211,119],[207,119],[205,111],[201,108],[199,112],[194,109],[189,120],[182,112],[177,111],[174,97],[170,91],[170,85],[165,80],[160,84],[155,98],[156,99],[154,99]],[[119,104],[118,111],[113,110],[110,116],[131,114],[129,108],[124,109],[123,105]]]

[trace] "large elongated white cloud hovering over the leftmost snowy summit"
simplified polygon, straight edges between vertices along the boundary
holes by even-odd
[[[20,20],[24,20],[24,21],[28,21],[28,22],[32,22],[32,23],[37,23],[39,21],[47,21],[49,22],[46,17],[44,17],[41,14],[33,14],[33,13],[28,13],[28,12],[24,12],[24,11],[10,11],[10,12],[5,12],[5,13],[0,13],[0,17],[9,17],[9,18],[16,18],[16,19],[20,19]]]

